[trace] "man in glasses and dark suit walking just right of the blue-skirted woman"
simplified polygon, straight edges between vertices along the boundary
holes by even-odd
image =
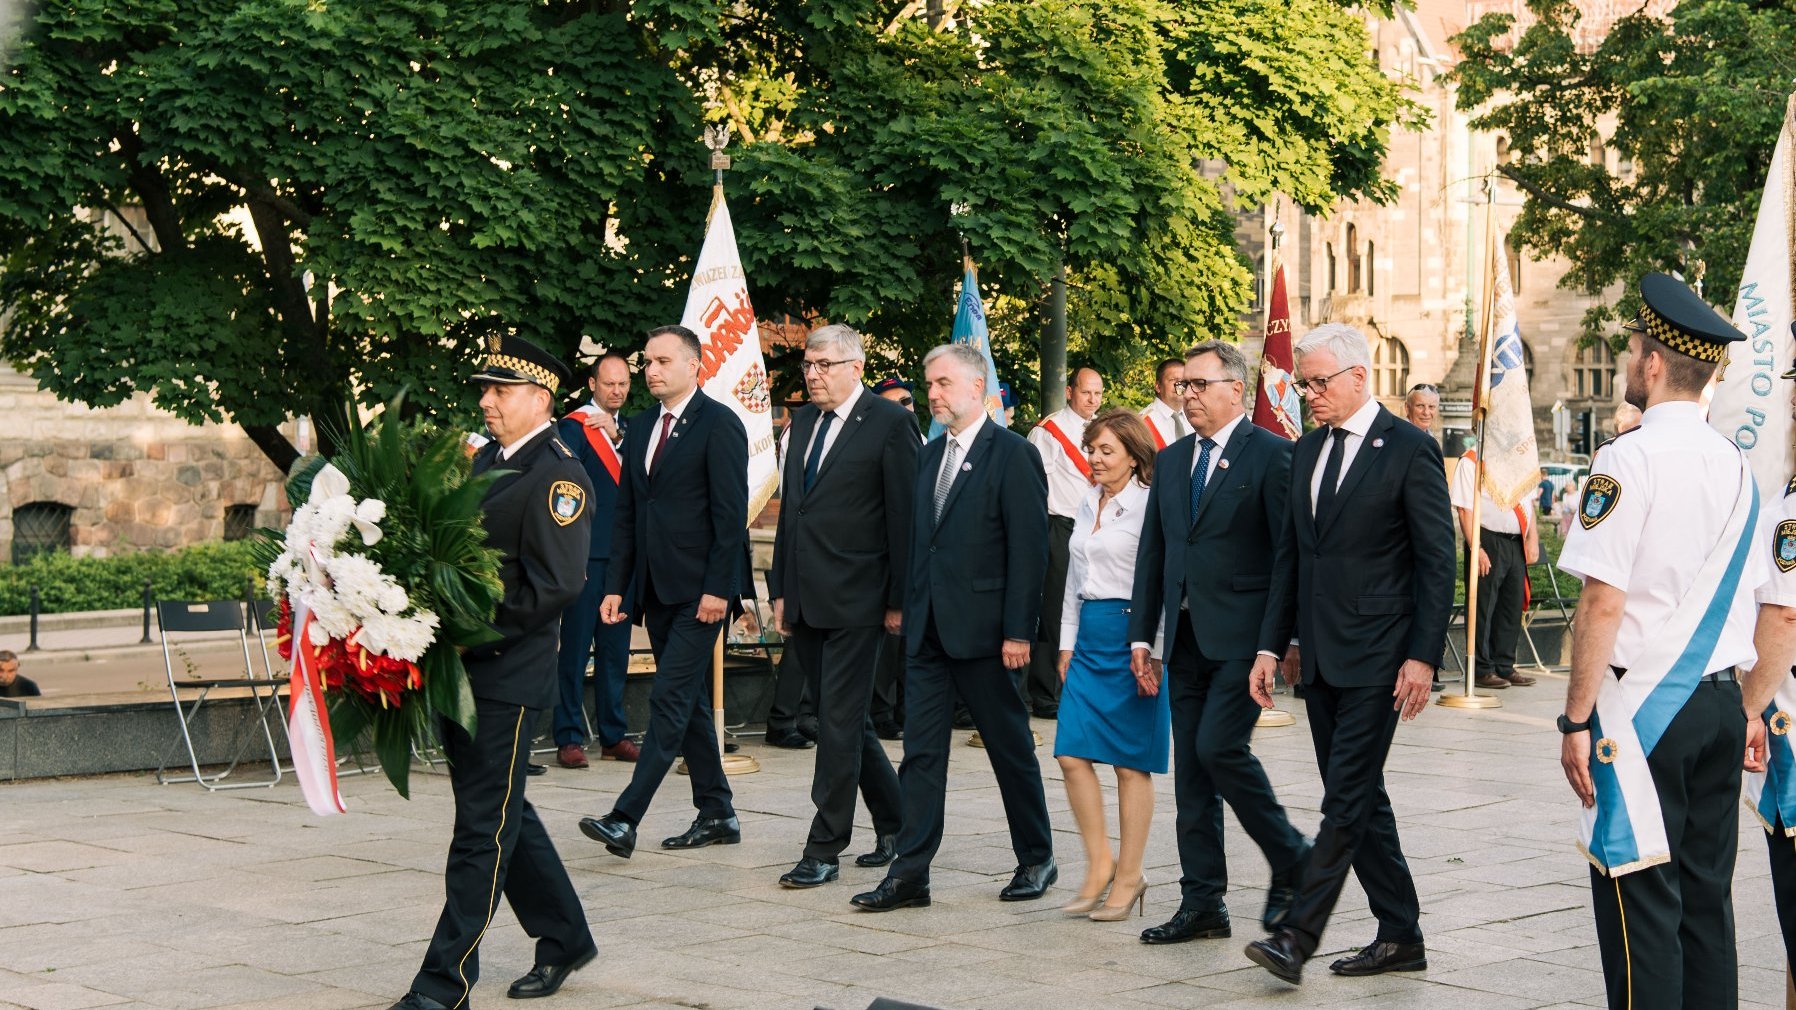
[[[1245,417],[1246,359],[1232,343],[1193,347],[1178,390],[1196,435],[1155,460],[1130,615],[1137,676],[1153,661],[1157,629],[1166,629],[1184,872],[1178,913],[1144,931],[1146,944],[1228,936],[1223,800],[1272,864],[1266,929],[1284,922],[1307,846],[1248,746],[1259,706],[1246,679],[1286,525],[1291,444]]]

